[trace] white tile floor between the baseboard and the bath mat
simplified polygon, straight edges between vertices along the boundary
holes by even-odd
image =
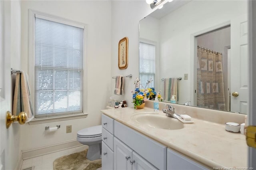
[[[72,154],[75,152],[80,152],[82,150],[85,150],[87,146],[79,146],[67,150],[62,150],[59,152],[54,152],[51,154],[46,154],[43,156],[37,156],[34,158],[23,160],[22,162],[22,168],[21,170],[24,170],[26,168],[32,168],[32,170],[53,170],[53,161],[56,158],[59,158],[64,155]],[[97,170],[101,170],[101,168],[98,168]]]

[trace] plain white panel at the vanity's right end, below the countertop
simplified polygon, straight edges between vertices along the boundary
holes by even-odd
[[[178,152],[167,149],[167,170],[207,170],[205,166]]]

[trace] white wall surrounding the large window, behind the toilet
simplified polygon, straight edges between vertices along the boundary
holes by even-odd
[[[28,9],[60,16],[87,24],[86,70],[88,75],[86,100],[87,118],[22,125],[21,149],[28,150],[60,142],[76,140],[78,130],[101,124],[101,109],[105,109],[110,96],[111,79],[111,1],[26,1],[21,2],[21,64],[28,72]],[[60,129],[46,132],[45,126]],[[66,133],[66,125],[72,125],[72,132]]]

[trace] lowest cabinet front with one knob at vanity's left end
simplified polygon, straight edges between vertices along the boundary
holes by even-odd
[[[114,152],[102,142],[102,170],[113,170]]]

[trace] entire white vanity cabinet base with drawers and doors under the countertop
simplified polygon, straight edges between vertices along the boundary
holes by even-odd
[[[144,134],[102,115],[102,170],[206,170]]]

